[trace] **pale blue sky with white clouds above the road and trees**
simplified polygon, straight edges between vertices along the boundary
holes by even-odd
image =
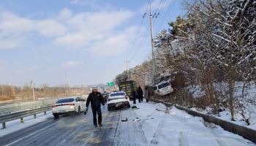
[[[184,15],[181,0],[151,3],[153,13],[161,10],[154,34]],[[1,0],[0,84],[64,85],[65,72],[70,85],[113,80],[126,58],[132,67],[150,55],[147,6],[148,0]]]

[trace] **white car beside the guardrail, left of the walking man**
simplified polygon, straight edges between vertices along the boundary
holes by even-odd
[[[76,112],[80,114],[81,111],[86,110],[85,100],[80,96],[67,97],[59,99],[56,104],[52,105],[52,111],[55,118],[59,118],[59,115]]]

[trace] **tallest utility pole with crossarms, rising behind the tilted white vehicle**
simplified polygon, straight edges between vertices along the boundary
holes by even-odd
[[[153,80],[152,80],[152,85],[154,86],[154,79],[155,79],[155,73],[156,73],[156,64],[155,64],[155,56],[154,56],[154,38],[153,38],[153,23],[152,23],[152,19],[153,18],[157,18],[157,16],[159,15],[159,13],[154,13],[154,15],[152,15],[151,12],[151,4],[149,5],[149,23],[150,23],[150,31],[151,31],[151,51],[152,51],[152,74],[153,74]],[[143,18],[145,18],[146,13],[143,15]]]

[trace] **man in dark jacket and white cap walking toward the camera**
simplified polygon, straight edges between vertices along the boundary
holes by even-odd
[[[97,91],[97,88],[92,88],[92,93],[89,94],[86,101],[86,111],[88,110],[89,104],[91,102],[91,110],[94,115],[94,126],[97,127],[97,114],[98,114],[98,124],[102,127],[102,110],[100,109],[100,104],[105,106],[105,101],[102,94]]]

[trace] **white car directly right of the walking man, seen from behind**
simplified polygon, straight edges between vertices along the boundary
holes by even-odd
[[[108,111],[127,107],[130,108],[129,99],[124,91],[117,91],[114,93],[110,93],[108,96]]]

